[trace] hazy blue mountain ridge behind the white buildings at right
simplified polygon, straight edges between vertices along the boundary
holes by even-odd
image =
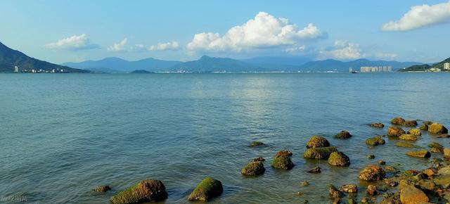
[[[368,59],[358,59],[349,62],[343,62],[340,60],[317,60],[305,63],[300,66],[302,71],[314,71],[314,72],[325,72],[325,71],[338,71],[338,72],[348,72],[349,68],[353,70],[359,70],[361,67],[371,67],[371,66],[391,66],[392,70],[398,70],[401,68],[407,68],[411,65],[420,64],[416,62],[397,62],[397,61],[385,61],[385,60],[368,60]]]

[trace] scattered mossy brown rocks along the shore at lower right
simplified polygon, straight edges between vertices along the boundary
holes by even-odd
[[[373,129],[383,129],[385,125],[380,122],[369,124]],[[418,148],[418,150],[407,151],[406,155],[413,158],[429,160],[429,165],[419,170],[397,170],[397,167],[390,165],[389,160],[373,160],[373,164],[359,169],[359,184],[345,184],[335,186],[328,184],[328,196],[330,203],[449,203],[450,202],[450,148],[437,143],[428,144],[428,148],[423,148],[411,142],[421,139],[423,132],[436,138],[449,138],[448,130],[444,125],[437,122],[423,121],[418,127],[417,120],[404,120],[395,117],[391,120],[391,125],[387,127],[386,136],[378,135],[367,137],[365,145],[368,148],[373,146],[383,147],[385,139],[389,139],[395,144],[394,148]],[[407,129],[407,130],[405,130]],[[357,136],[357,135],[356,135]],[[355,136],[342,130],[335,134],[335,139],[352,139]],[[334,142],[333,142],[334,143]],[[253,141],[249,147],[257,148],[265,146],[260,141]],[[311,160],[326,160],[328,165],[347,169],[352,165],[352,155],[346,155],[339,151],[337,146],[332,146],[330,141],[324,136],[314,135],[307,141],[306,151],[302,157]],[[431,158],[432,153],[441,156]],[[296,153],[297,155],[300,153]],[[288,150],[278,151],[271,160],[270,167],[276,170],[292,170],[295,167],[291,160],[294,153]],[[368,159],[375,158],[375,155],[368,155]],[[258,177],[264,174],[265,159],[262,157],[250,159],[248,164],[240,170],[243,177]],[[355,167],[354,167],[355,168]],[[321,167],[316,166],[308,171],[309,173],[320,174]],[[302,181],[302,186],[310,186],[308,181]],[[93,191],[105,193],[114,189],[110,186],[97,186]],[[207,202],[221,196],[224,191],[221,181],[211,177],[205,177],[189,193],[186,200]],[[326,193],[324,193],[325,195]],[[358,195],[359,196],[356,196]],[[302,192],[297,192],[297,196],[302,196]],[[363,196],[361,196],[363,195]],[[110,198],[110,203],[147,203],[165,200],[169,195],[162,181],[146,179],[134,186],[119,191]],[[359,198],[359,200],[357,199]],[[314,200],[304,200],[304,203],[315,203]]]

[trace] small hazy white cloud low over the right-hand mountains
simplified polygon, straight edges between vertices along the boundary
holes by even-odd
[[[335,58],[339,60],[350,60],[365,57],[359,44],[343,40],[336,40],[332,50],[319,51],[319,58]]]

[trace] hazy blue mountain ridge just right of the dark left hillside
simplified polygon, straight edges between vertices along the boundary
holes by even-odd
[[[87,60],[81,63],[63,63],[72,68],[84,70],[113,70],[113,72],[131,72],[133,70],[147,70],[150,72],[160,72],[169,70],[172,66],[181,63],[171,60],[157,60],[145,58],[142,60],[129,61],[121,58],[104,58],[103,60]]]

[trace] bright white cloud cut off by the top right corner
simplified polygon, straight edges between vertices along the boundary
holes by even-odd
[[[383,25],[385,31],[413,30],[436,23],[443,23],[450,19],[450,1],[429,6],[413,6],[400,20],[390,21]]]

